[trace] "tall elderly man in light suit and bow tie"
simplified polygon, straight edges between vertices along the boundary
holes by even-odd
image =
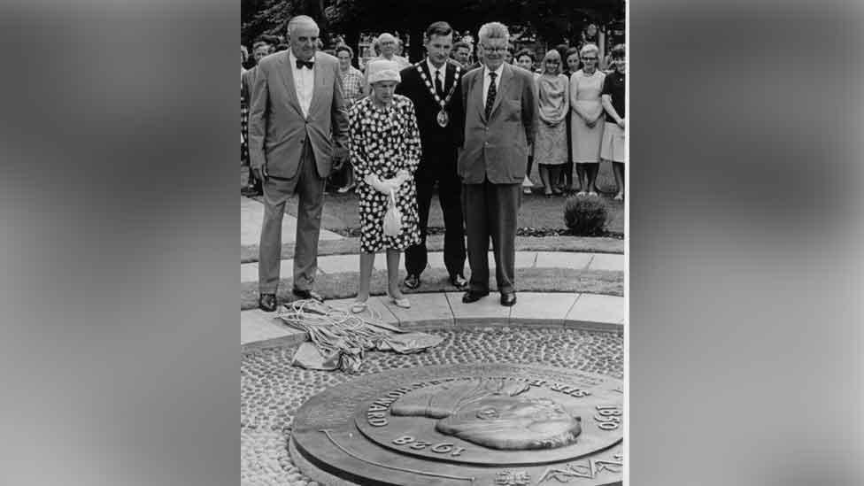
[[[321,300],[312,290],[318,271],[318,236],[324,181],[348,153],[348,110],[339,61],[316,52],[320,30],[312,18],[288,23],[290,49],[262,59],[249,112],[251,167],[264,181],[264,225],[258,258],[258,306],[278,307],[282,216],[299,196],[294,288],[299,298]]]

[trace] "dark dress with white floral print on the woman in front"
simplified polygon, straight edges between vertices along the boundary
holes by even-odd
[[[351,106],[348,120],[351,163],[358,181],[360,251],[404,251],[420,243],[417,188],[413,179],[420,166],[420,130],[413,103],[405,96],[394,95],[393,103],[381,108],[373,103],[372,96],[367,96]],[[396,204],[402,212],[402,232],[397,236],[387,236],[384,235],[383,220],[390,197],[378,192],[364,179],[369,174],[390,179],[403,169],[411,177],[396,193]]]

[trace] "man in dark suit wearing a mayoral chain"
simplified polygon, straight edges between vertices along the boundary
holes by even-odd
[[[462,184],[456,173],[456,147],[465,117],[460,84],[464,70],[449,60],[453,29],[447,22],[435,22],[426,29],[428,57],[402,70],[397,94],[413,101],[420,129],[422,157],[414,174],[417,184],[417,208],[420,212],[420,243],[405,250],[405,287],[420,286],[420,274],[426,268],[426,231],[429,206],[435,183],[444,212],[444,266],[450,282],[465,289],[465,231],[460,193]]]

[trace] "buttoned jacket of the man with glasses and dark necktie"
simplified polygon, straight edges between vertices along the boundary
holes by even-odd
[[[466,184],[488,178],[494,184],[525,179],[528,145],[537,119],[534,76],[519,66],[504,64],[489,120],[483,105],[483,73],[474,69],[462,78],[465,129],[459,151],[459,177]]]

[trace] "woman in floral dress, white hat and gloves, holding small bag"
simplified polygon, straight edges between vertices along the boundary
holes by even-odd
[[[413,177],[420,165],[420,131],[414,105],[394,92],[401,81],[396,62],[374,60],[366,70],[372,94],[352,105],[348,116],[361,229],[359,291],[351,312],[366,309],[375,253],[382,250],[387,251],[388,297],[410,307],[399,289],[399,258],[405,248],[420,243]],[[391,191],[402,212],[401,232],[395,236],[383,231]]]

